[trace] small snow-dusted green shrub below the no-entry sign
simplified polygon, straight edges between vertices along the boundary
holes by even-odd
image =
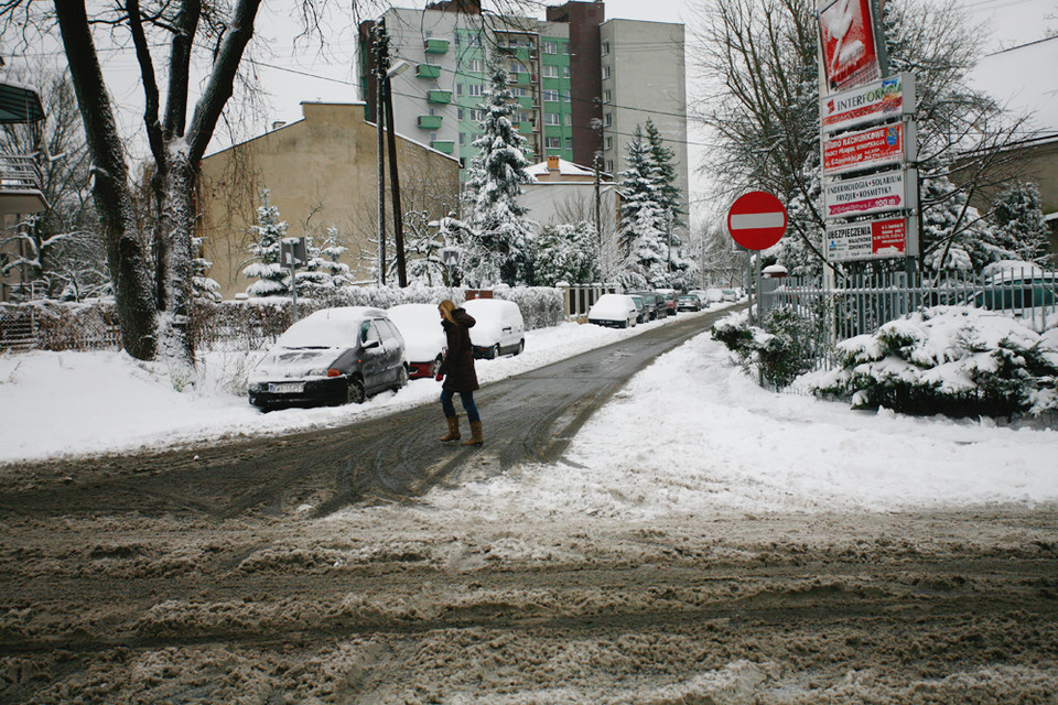
[[[760,326],[751,325],[748,312],[732,314],[719,321],[712,334],[776,388],[810,370],[822,344],[820,317],[788,306],[766,312]]]

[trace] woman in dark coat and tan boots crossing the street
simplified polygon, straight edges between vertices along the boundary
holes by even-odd
[[[474,347],[471,344],[469,330],[474,327],[475,321],[471,314],[447,299],[441,302],[438,311],[441,312],[441,326],[447,338],[447,348],[436,378],[439,382],[442,377],[444,378],[444,384],[441,388],[441,409],[444,410],[444,417],[449,422],[449,432],[441,436],[441,442],[458,441],[462,437],[460,419],[455,415],[455,405],[452,403],[455,392],[460,392],[466,420],[471,422],[471,437],[462,445],[482,445],[485,438],[482,436],[482,416],[477,413],[477,405],[474,404],[474,391],[478,384],[477,372],[474,371]]]

